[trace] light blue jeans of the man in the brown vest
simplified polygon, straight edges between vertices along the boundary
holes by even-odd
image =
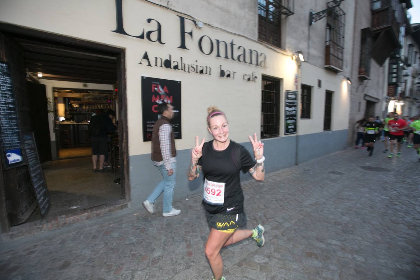
[[[164,164],[157,166],[162,174],[163,181],[160,181],[150,196],[147,197],[147,200],[153,204],[160,194],[163,193],[164,213],[171,212],[172,210],[173,189],[176,184],[176,162],[172,162],[171,165],[173,170],[173,174],[171,176],[168,175],[168,170],[165,169]]]

